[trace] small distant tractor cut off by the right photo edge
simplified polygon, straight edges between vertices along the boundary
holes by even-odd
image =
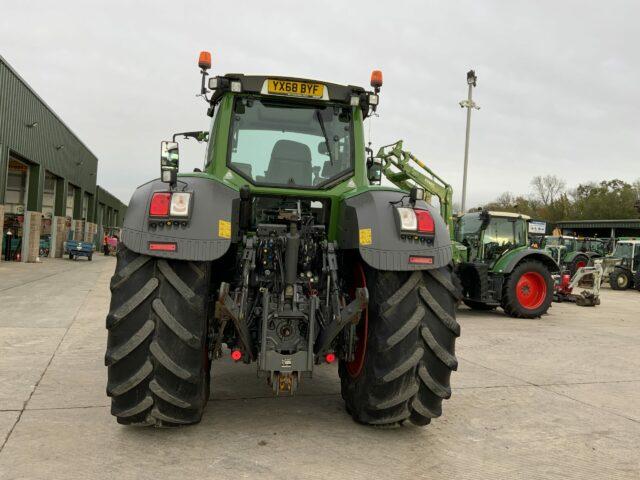
[[[636,288],[640,291],[640,239],[618,239],[611,255],[601,260],[604,278],[613,290]]]

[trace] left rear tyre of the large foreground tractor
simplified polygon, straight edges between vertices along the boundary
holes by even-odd
[[[197,423],[209,398],[210,265],[117,254],[107,315],[107,395],[126,425]]]

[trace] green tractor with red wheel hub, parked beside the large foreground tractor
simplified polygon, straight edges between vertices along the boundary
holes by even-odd
[[[529,247],[526,215],[482,210],[458,219],[456,240],[466,258],[456,272],[463,302],[474,310],[502,307],[507,315],[537,318],[553,301],[556,262]]]

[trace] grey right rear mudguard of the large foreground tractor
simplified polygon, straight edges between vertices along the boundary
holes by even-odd
[[[358,249],[364,261],[377,270],[430,270],[451,263],[451,239],[440,212],[426,202],[416,202],[416,208],[431,213],[435,236],[429,242],[402,238],[394,211],[394,205],[400,206],[401,201],[408,206],[408,195],[389,190],[370,190],[344,200],[338,227],[339,247]],[[409,263],[411,256],[431,257],[432,263]]]

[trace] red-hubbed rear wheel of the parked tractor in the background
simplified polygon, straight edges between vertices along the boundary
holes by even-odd
[[[502,309],[515,318],[538,318],[553,301],[553,278],[535,260],[524,261],[509,274],[502,287]]]

